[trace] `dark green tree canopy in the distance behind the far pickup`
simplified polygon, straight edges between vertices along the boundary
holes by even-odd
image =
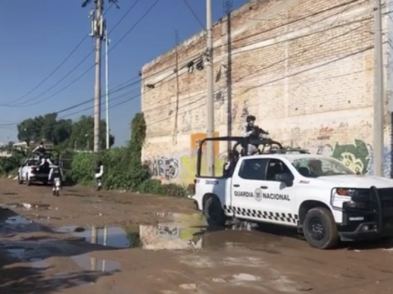
[[[106,147],[106,122],[100,124],[100,147]],[[24,120],[18,124],[18,139],[20,141],[45,141],[62,147],[89,149],[93,148],[94,118],[82,116],[77,121],[57,119],[56,113],[48,113]],[[110,146],[114,137],[110,135]]]

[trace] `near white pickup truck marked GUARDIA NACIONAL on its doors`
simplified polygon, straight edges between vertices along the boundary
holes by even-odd
[[[393,180],[358,175],[331,157],[289,153],[243,156],[226,177],[205,177],[199,149],[193,199],[209,225],[236,218],[292,226],[320,249],[393,237]]]

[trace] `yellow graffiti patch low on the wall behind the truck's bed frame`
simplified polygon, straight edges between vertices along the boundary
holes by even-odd
[[[195,174],[197,172],[197,157],[190,157],[190,156],[182,156],[180,158],[181,162],[181,169],[179,171],[180,181],[184,185],[194,183]],[[215,166],[215,174],[222,175],[223,167],[224,167],[224,160],[221,158],[216,158],[214,160]],[[201,175],[207,175],[207,166],[206,166],[206,158],[202,159]]]

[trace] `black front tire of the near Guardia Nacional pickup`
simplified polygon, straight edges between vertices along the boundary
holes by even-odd
[[[303,233],[311,247],[331,249],[339,242],[337,225],[329,209],[316,207],[306,214]]]

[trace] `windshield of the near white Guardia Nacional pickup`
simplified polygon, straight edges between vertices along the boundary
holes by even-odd
[[[298,158],[292,160],[292,165],[301,175],[306,177],[356,174],[334,158]]]

